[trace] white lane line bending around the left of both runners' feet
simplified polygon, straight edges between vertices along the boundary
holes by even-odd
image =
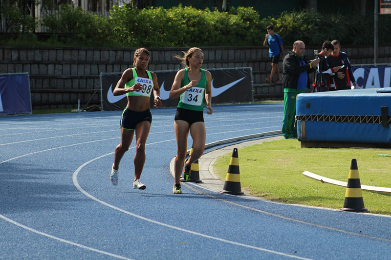
[[[172,139],[172,140],[176,140],[176,139]],[[166,141],[172,141],[172,140],[165,140],[165,141],[159,141],[159,142],[152,142],[152,143],[149,143],[149,144],[146,144],[146,145],[152,145],[152,144],[156,144],[156,143],[161,143],[161,142],[166,142]],[[225,243],[229,243],[229,244],[234,244],[234,245],[238,245],[238,246],[242,246],[242,247],[246,247],[246,248],[251,248],[251,249],[256,249],[256,250],[260,250],[260,251],[264,251],[264,252],[268,252],[268,253],[272,253],[272,254],[277,254],[277,255],[281,255],[281,256],[284,256],[284,257],[290,257],[290,258],[296,258],[296,259],[305,259],[307,260],[307,258],[302,258],[302,257],[297,257],[297,256],[293,256],[293,255],[290,255],[290,254],[286,254],[286,253],[282,253],[282,252],[278,252],[278,251],[274,251],[274,250],[269,250],[269,249],[266,249],[266,248],[262,248],[262,247],[256,247],[256,246],[252,246],[252,245],[247,245],[247,244],[243,244],[243,243],[239,243],[239,242],[235,242],[235,241],[231,241],[231,240],[225,240],[225,239],[221,239],[221,238],[217,238],[217,237],[212,237],[212,236],[209,236],[209,235],[205,235],[205,234],[202,234],[202,233],[198,233],[198,232],[194,232],[194,231],[191,231],[191,230],[188,230],[188,229],[184,229],[184,228],[180,228],[180,227],[176,227],[176,226],[173,226],[173,225],[169,225],[169,224],[166,224],[166,223],[163,223],[163,222],[159,222],[159,221],[156,221],[156,220],[151,220],[151,219],[148,219],[148,218],[145,218],[145,217],[142,217],[140,215],[136,215],[134,213],[131,213],[129,211],[126,211],[124,209],[121,209],[121,208],[118,208],[116,206],[113,206],[103,200],[99,200],[97,198],[95,198],[94,196],[92,196],[91,194],[87,193],[87,191],[85,191],[80,185],[79,185],[79,182],[77,181],[77,175],[79,174],[79,172],[84,168],[84,166],[86,166],[88,163],[94,161],[94,160],[98,160],[98,159],[101,159],[105,156],[108,156],[108,155],[112,155],[114,152],[112,153],[109,153],[109,154],[105,154],[105,155],[102,155],[102,156],[99,156],[99,157],[96,157],[92,160],[89,160],[85,163],[83,163],[82,165],[79,166],[79,168],[76,169],[76,171],[73,173],[72,175],[72,180],[73,180],[73,184],[76,186],[76,188],[81,191],[84,195],[86,195],[88,198],[92,199],[92,200],[95,200],[105,206],[108,206],[114,210],[117,210],[117,211],[120,211],[122,213],[125,213],[127,215],[130,215],[132,217],[135,217],[137,219],[140,219],[140,220],[145,220],[145,221],[148,221],[148,222],[151,222],[151,223],[154,223],[154,224],[158,224],[158,225],[161,225],[161,226],[165,226],[165,227],[168,227],[168,228],[172,228],[172,229],[175,229],[175,230],[178,230],[178,231],[182,231],[182,232],[186,232],[186,233],[189,233],[189,234],[193,234],[193,235],[196,235],[196,236],[200,236],[200,237],[204,237],[204,238],[208,238],[208,239],[212,239],[212,240],[217,240],[217,241],[220,241],[220,242],[225,242]]]

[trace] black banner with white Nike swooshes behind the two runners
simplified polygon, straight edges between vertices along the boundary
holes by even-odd
[[[212,74],[213,104],[253,101],[251,67],[208,69],[208,71]],[[179,98],[169,99],[176,72],[174,70],[154,71],[159,83],[163,107],[172,107],[178,104]],[[113,89],[121,75],[122,73],[101,73],[102,110],[123,110],[128,103],[126,95],[113,95]],[[151,107],[153,107],[153,94],[151,95]]]

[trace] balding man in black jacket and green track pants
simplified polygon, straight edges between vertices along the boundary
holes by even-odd
[[[282,135],[285,139],[296,139],[295,125],[296,96],[309,88],[309,73],[315,71],[319,60],[305,60],[305,44],[301,40],[293,43],[293,49],[282,61],[282,86],[284,88],[284,117],[282,120]]]

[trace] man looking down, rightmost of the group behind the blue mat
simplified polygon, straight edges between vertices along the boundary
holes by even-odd
[[[327,57],[327,63],[330,67],[344,66],[340,70],[331,75],[330,90],[339,89],[350,89],[353,84],[357,86],[356,80],[354,79],[353,72],[351,71],[350,61],[348,55],[341,50],[341,44],[338,40],[331,41],[334,46],[334,50],[331,55]]]

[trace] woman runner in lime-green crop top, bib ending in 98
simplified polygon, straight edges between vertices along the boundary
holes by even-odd
[[[133,188],[144,190],[140,176],[145,163],[145,142],[147,141],[152,123],[150,97],[153,92],[154,107],[162,105],[157,77],[146,70],[150,60],[150,52],[140,48],[134,52],[133,66],[124,71],[114,88],[113,95],[126,94],[128,104],[121,117],[121,142],[115,148],[114,163],[111,168],[110,180],[118,184],[118,167],[125,152],[129,150],[134,133],[136,134],[136,155],[134,156]]]

